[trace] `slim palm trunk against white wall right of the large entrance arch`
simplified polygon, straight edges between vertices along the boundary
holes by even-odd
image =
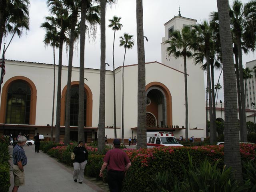
[[[188,81],[187,81],[187,58],[186,55],[183,56],[184,59],[184,82],[185,82],[185,140],[188,140]]]

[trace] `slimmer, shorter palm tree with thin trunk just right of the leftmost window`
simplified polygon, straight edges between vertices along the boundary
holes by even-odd
[[[46,22],[40,27],[46,30],[44,36],[44,44],[51,45],[53,48],[53,98],[52,98],[52,125],[51,125],[51,141],[53,141],[53,123],[54,123],[54,103],[55,103],[55,47],[59,47],[59,36],[57,34],[56,21],[51,20],[51,17],[45,17]]]

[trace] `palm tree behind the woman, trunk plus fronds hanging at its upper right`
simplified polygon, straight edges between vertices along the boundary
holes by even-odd
[[[84,141],[84,48],[85,34],[90,33],[89,37],[94,38],[96,26],[100,23],[100,7],[93,6],[90,0],[81,1],[80,19],[80,75],[79,75],[79,107],[78,107],[78,141]],[[88,25],[86,25],[88,24]]]

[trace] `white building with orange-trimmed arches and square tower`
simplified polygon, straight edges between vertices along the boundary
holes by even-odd
[[[166,40],[171,30],[195,24],[196,20],[175,16],[164,24],[162,38],[162,63],[146,63],[147,130],[173,131],[176,137],[185,135],[185,91],[183,59],[175,59],[166,53]],[[124,70],[124,82],[122,72]],[[56,82],[57,82],[56,70]],[[65,96],[68,67],[62,67],[61,129],[64,138]],[[85,68],[85,138],[90,142],[97,138],[100,93],[100,70]],[[124,138],[137,136],[137,64],[118,67],[116,75],[116,123],[117,137],[121,138],[122,84],[124,83]],[[193,60],[187,60],[188,73],[188,134],[205,137],[204,73]],[[72,103],[70,114],[70,139],[77,139],[79,68],[72,68]],[[57,84],[57,83],[56,83]],[[56,86],[57,89],[57,86]],[[0,105],[0,132],[18,132],[34,136],[36,132],[50,137],[52,121],[53,65],[6,60],[6,75],[2,84]],[[57,92],[57,91],[56,91]],[[114,138],[113,71],[106,71],[106,135]],[[56,101],[55,101],[56,109]],[[56,117],[54,117],[55,124]],[[177,128],[178,127],[178,128]],[[54,130],[55,137],[55,130]]]

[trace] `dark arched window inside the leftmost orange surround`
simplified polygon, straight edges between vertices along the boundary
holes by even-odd
[[[25,81],[14,81],[8,88],[6,123],[29,124],[31,90]]]

